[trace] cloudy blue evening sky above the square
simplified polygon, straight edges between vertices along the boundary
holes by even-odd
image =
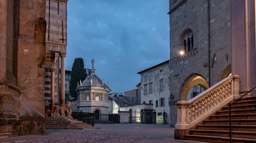
[[[136,89],[137,72],[169,59],[169,0],[69,0],[66,70],[75,58],[109,82]]]

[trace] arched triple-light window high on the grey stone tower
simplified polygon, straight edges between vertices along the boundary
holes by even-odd
[[[180,36],[180,50],[184,53],[194,49],[194,34],[191,29],[186,29]]]

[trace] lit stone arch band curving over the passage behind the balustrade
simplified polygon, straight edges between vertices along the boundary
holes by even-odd
[[[186,101],[189,90],[195,85],[199,85],[203,87],[204,90],[207,90],[209,88],[209,85],[206,79],[204,78],[204,76],[198,73],[192,73],[185,79],[185,81],[183,82],[180,88],[179,100]]]

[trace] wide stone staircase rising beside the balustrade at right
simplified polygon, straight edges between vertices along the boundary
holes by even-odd
[[[231,106],[232,143],[256,143],[256,97],[244,97]],[[190,129],[185,140],[230,143],[229,106]]]

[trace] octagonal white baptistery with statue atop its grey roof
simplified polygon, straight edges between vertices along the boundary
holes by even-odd
[[[77,111],[108,114],[108,93],[110,91],[108,85],[96,76],[95,69],[92,67],[90,76],[83,82],[80,81],[76,88]]]

